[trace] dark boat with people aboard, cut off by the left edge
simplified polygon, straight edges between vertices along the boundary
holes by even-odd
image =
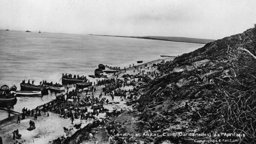
[[[0,107],[13,107],[17,103],[17,98],[14,94],[10,93],[10,89],[7,85],[3,85],[0,88]]]

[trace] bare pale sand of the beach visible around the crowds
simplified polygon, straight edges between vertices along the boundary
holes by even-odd
[[[139,64],[139,65],[134,65],[137,67],[143,67],[144,65],[148,65],[151,66],[153,63],[157,64],[160,63],[162,60],[172,60],[173,58],[164,58],[164,59],[158,59],[158,60],[153,60],[153,61],[149,61],[143,64]],[[109,79],[111,78],[116,78],[117,76],[119,78],[122,77],[123,74],[133,74],[133,67],[131,68],[126,68],[126,72],[124,73],[124,69],[120,70],[119,72],[117,72],[115,75],[109,75]],[[156,68],[150,68],[149,70],[156,70]],[[135,72],[137,74],[137,71]],[[96,82],[96,79],[94,79],[94,81]],[[103,86],[99,86],[99,85],[95,85],[96,88],[96,92],[94,93],[94,95],[96,97],[99,96],[100,92],[102,92],[102,88]],[[132,89],[131,86],[127,86],[125,87],[126,90],[128,89]],[[81,95],[81,100],[84,98],[85,96],[85,92],[79,92],[79,95]],[[108,98],[110,99],[110,98]],[[48,103],[52,103],[55,100],[52,100]],[[126,100],[121,101],[119,97],[115,97],[114,100],[115,103],[113,103],[112,105],[104,105],[105,108],[107,108],[109,110],[109,112],[115,110],[120,110],[121,108],[125,109],[128,108],[126,106]],[[47,104],[48,104],[47,103]],[[43,105],[38,106],[39,108],[42,108]],[[89,109],[89,108],[88,108]],[[34,133],[31,133],[29,131],[26,130],[26,128],[28,128],[28,121],[31,119],[33,120],[34,118],[31,116],[26,116],[26,118],[24,120],[21,120],[20,124],[16,124],[17,122],[17,117],[18,115],[14,115],[8,118],[5,118],[4,120],[0,121],[0,125],[1,125],[1,129],[0,129],[0,133],[4,133],[4,135],[1,135],[3,138],[3,141],[10,143],[10,142],[14,142],[14,140],[12,140],[12,132],[16,129],[19,129],[19,131],[21,132],[21,134],[25,134],[24,136],[22,136],[21,141],[22,143],[32,143],[32,142],[37,142],[37,143],[44,143],[44,142],[49,142],[52,141],[58,137],[67,137],[67,136],[71,136],[72,134],[74,134],[77,130],[73,127],[72,124],[70,124],[68,119],[63,119],[59,117],[59,114],[55,114],[52,112],[49,112],[50,117],[47,117],[46,115],[42,114],[42,116],[39,116],[37,121],[35,121],[36,123],[36,129]],[[54,117],[54,120],[51,118]],[[102,119],[106,117],[106,113],[104,114],[100,114],[99,117],[97,117],[98,119]],[[61,121],[62,124],[58,125]],[[86,120],[75,120],[74,124],[79,124],[82,123],[81,128],[85,127],[87,124],[91,124],[93,121],[86,121]],[[50,124],[50,125],[48,125]],[[48,128],[48,130],[44,130],[45,129],[45,125],[48,125],[50,128]],[[54,129],[58,130],[58,132],[54,129],[51,128],[51,125],[55,125]],[[73,128],[72,132],[70,132],[68,135],[66,133],[64,133],[63,127],[68,127],[70,129]],[[23,132],[23,133],[22,133]],[[32,131],[33,132],[33,131]]]

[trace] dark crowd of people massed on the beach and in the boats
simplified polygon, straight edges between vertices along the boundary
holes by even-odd
[[[119,69],[120,67],[109,67],[106,65],[106,67],[111,68],[111,69]],[[131,67],[131,65],[130,65]],[[62,93],[60,95],[56,96],[56,100],[49,102],[47,104],[44,104],[42,108],[36,107],[36,109],[28,109],[28,108],[23,108],[22,109],[22,114],[21,114],[21,119],[25,119],[26,116],[32,116],[34,117],[34,121],[37,120],[38,116],[42,116],[42,112],[47,116],[49,116],[48,111],[60,114],[60,117],[62,118],[68,118],[71,121],[71,124],[73,124],[75,119],[81,119],[81,120],[92,120],[95,119],[96,116],[99,115],[99,113],[104,113],[107,112],[108,109],[104,108],[104,104],[108,105],[110,103],[110,100],[108,100],[107,96],[111,97],[111,100],[114,101],[115,96],[120,96],[120,100],[126,99],[126,94],[127,92],[131,93],[131,90],[126,90],[122,89],[122,87],[125,86],[136,86],[137,82],[135,81],[134,78],[138,78],[138,82],[140,81],[145,81],[145,79],[148,79],[149,76],[151,77],[156,77],[158,73],[156,71],[147,71],[141,70],[143,67],[138,67],[134,66],[133,64],[133,72],[135,73],[135,70],[137,70],[138,74],[136,75],[123,75],[123,80],[118,79],[118,75],[116,75],[115,78],[111,79],[102,79],[98,80],[97,79],[97,85],[101,86],[103,85],[104,87],[102,88],[102,92],[100,92],[99,97],[95,97],[94,93],[96,92],[96,87],[91,86],[88,89],[86,89],[86,94],[81,99],[81,96],[78,95],[79,91],[78,89],[73,89],[73,90],[68,90],[67,87],[67,93]],[[147,65],[144,65],[144,68],[148,68]],[[125,68],[124,68],[125,69]],[[126,72],[126,69],[125,69]],[[145,74],[144,74],[145,73]],[[115,74],[114,74],[115,75]],[[77,80],[86,80],[86,76],[79,76],[79,75],[72,75],[72,74],[62,74],[62,78],[67,78],[67,79],[77,79]],[[130,80],[128,80],[130,78]],[[133,78],[133,79],[132,79]],[[25,80],[22,81],[22,84],[25,84]],[[30,84],[30,80],[28,80],[28,85],[34,85],[34,81]],[[48,83],[45,81],[40,82],[40,85],[45,84],[45,85],[50,85],[54,87],[61,87],[61,84],[55,83],[53,84]],[[94,82],[95,85],[95,82]],[[103,96],[104,94],[104,96]],[[88,110],[88,108],[91,107],[93,111]],[[30,121],[29,125],[30,128],[35,129],[35,122]],[[18,116],[17,123],[20,123],[20,115]],[[15,134],[15,139],[20,139],[21,134],[17,132],[16,130],[13,135]],[[18,135],[18,137],[17,137]]]

